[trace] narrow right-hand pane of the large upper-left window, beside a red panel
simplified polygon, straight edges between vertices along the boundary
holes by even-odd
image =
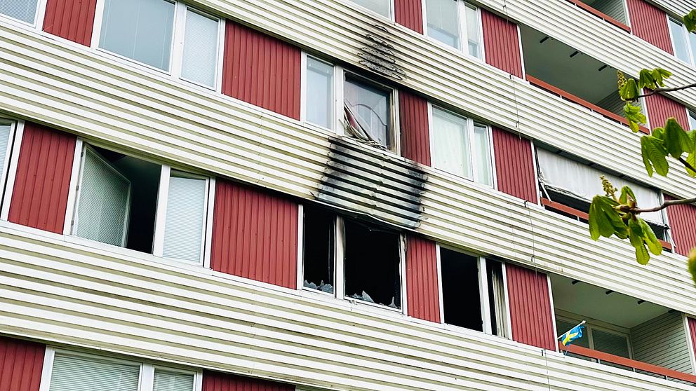
[[[217,19],[187,9],[181,60],[182,78],[215,88],[217,32]]]

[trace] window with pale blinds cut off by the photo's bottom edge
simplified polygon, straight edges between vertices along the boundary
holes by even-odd
[[[47,348],[48,391],[196,391],[201,373]]]

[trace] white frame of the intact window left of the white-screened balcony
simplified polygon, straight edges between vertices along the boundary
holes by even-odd
[[[439,109],[441,111],[445,111],[448,114],[452,114],[453,116],[457,116],[459,118],[462,118],[463,121],[467,122],[467,137],[469,138],[469,164],[471,165],[471,177],[462,177],[461,175],[454,174],[452,172],[448,172],[446,170],[442,170],[441,168],[436,167],[434,163],[434,156],[437,151],[435,150],[435,129],[434,129],[434,123],[433,123],[433,111],[434,109]],[[486,125],[486,132],[488,133],[488,153],[490,155],[490,186],[487,184],[484,184],[481,181],[478,181],[479,174],[478,174],[478,167],[476,166],[476,156],[475,154],[475,146],[476,146],[476,137],[475,137],[475,129],[474,129],[474,124],[478,123],[481,125]],[[434,170],[441,172],[442,174],[447,175],[448,177],[452,178],[457,178],[457,179],[466,179],[467,181],[474,182],[475,184],[479,184],[481,186],[486,186],[488,188],[493,188],[497,189],[497,173],[495,172],[495,148],[493,148],[493,129],[491,129],[490,125],[485,124],[481,121],[475,121],[473,118],[467,117],[467,116],[462,116],[461,114],[457,114],[454,111],[444,109],[443,107],[439,107],[435,104],[432,104],[431,102],[428,102],[428,136],[429,136],[429,143],[430,143],[430,156],[432,156],[432,167]]]

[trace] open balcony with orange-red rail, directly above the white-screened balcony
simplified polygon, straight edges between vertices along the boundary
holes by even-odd
[[[526,78],[531,84],[629,125],[617,91],[617,69],[530,27],[522,25],[520,31]],[[648,133],[647,128],[641,130]]]

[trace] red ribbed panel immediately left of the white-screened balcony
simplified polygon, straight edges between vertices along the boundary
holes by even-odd
[[[498,190],[537,203],[537,183],[532,142],[493,128],[495,173]]]

